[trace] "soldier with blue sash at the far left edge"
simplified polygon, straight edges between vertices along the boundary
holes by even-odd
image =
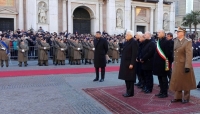
[[[4,34],[1,34],[0,40],[0,65],[3,67],[3,62],[5,61],[6,67],[8,67],[8,60],[10,56],[10,41],[6,39]]]

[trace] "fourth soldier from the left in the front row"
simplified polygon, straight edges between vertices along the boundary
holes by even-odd
[[[57,49],[57,63],[58,65],[65,65],[67,45],[62,39],[56,45]]]

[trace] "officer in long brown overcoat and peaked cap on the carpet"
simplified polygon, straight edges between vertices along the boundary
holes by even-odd
[[[190,90],[196,89],[192,67],[192,40],[185,37],[186,30],[179,27],[174,40],[174,66],[169,89],[175,92],[172,103],[188,103]],[[183,95],[183,93],[184,95]]]

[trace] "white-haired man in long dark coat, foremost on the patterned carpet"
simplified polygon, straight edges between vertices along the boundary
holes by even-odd
[[[134,96],[134,83],[136,82],[136,58],[138,53],[138,43],[133,38],[134,32],[127,30],[126,42],[123,47],[120,70],[118,78],[125,80],[126,93],[124,97]]]

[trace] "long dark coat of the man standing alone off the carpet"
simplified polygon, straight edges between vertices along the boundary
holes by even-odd
[[[106,67],[106,54],[108,52],[108,42],[103,38],[95,38],[94,47],[94,67]]]

